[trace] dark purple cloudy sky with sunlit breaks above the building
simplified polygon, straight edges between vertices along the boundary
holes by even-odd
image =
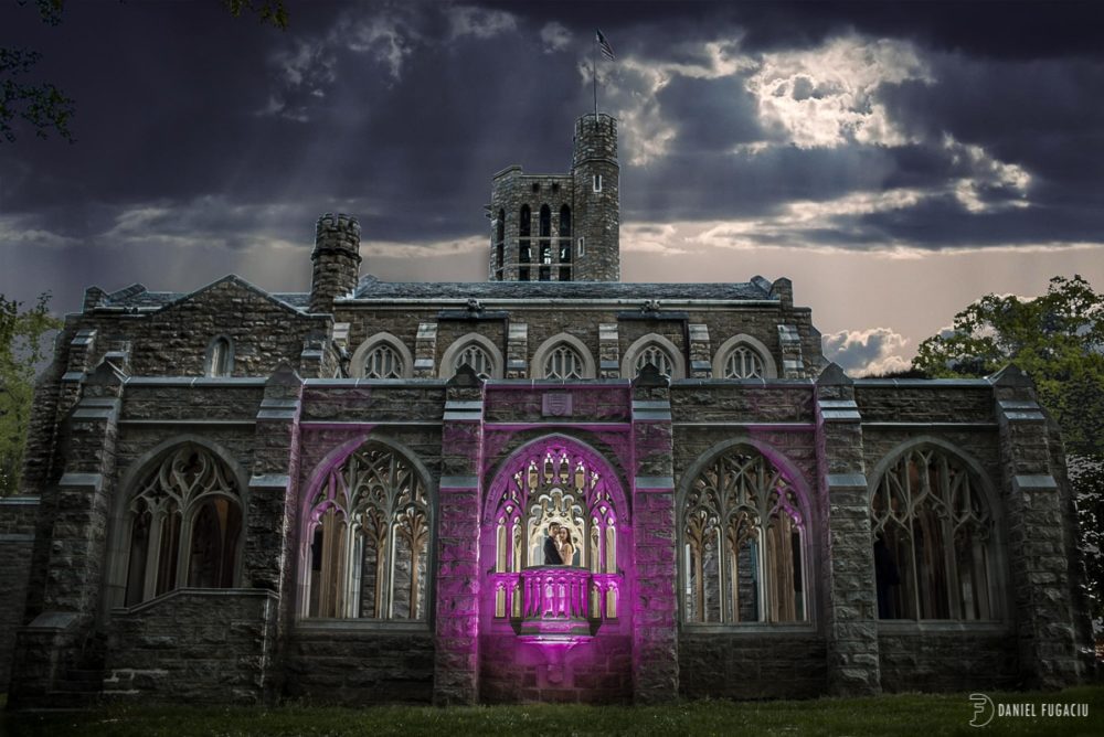
[[[490,177],[565,171],[620,121],[623,275],[794,279],[826,353],[903,367],[983,293],[1104,288],[1104,3],[289,2],[0,6],[75,143],[0,143],[0,293],[236,273],[305,289],[314,221],[362,273],[481,280]]]

